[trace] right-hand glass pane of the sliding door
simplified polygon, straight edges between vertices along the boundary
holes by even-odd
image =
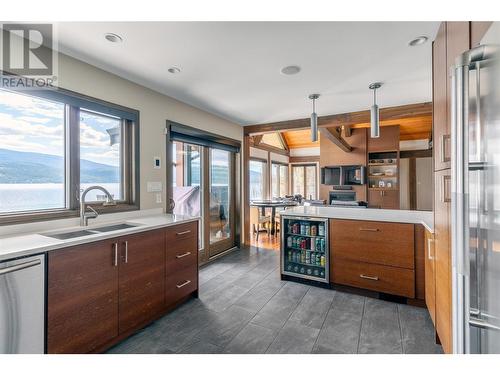
[[[231,153],[210,150],[210,243],[231,237]]]

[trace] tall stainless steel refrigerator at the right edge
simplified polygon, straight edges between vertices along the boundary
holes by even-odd
[[[500,25],[452,75],[454,353],[500,353]]]

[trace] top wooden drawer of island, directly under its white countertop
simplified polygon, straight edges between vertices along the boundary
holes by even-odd
[[[330,220],[330,251],[336,258],[414,269],[413,224]]]

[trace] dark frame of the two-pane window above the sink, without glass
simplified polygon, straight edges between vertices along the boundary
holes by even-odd
[[[29,95],[65,105],[64,116],[64,195],[65,207],[30,211],[0,213],[0,225],[23,224],[36,221],[57,220],[79,216],[80,209],[80,108],[87,112],[121,119],[122,157],[120,160],[123,181],[123,199],[115,206],[104,202],[90,203],[99,214],[140,209],[140,119],[139,111],[101,99],[58,88],[54,90],[5,90],[14,94]],[[77,106],[75,104],[81,104]],[[125,114],[126,117],[121,117]]]

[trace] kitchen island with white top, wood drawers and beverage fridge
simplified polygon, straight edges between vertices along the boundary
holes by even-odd
[[[282,278],[425,298],[431,211],[309,206],[281,217]]]

